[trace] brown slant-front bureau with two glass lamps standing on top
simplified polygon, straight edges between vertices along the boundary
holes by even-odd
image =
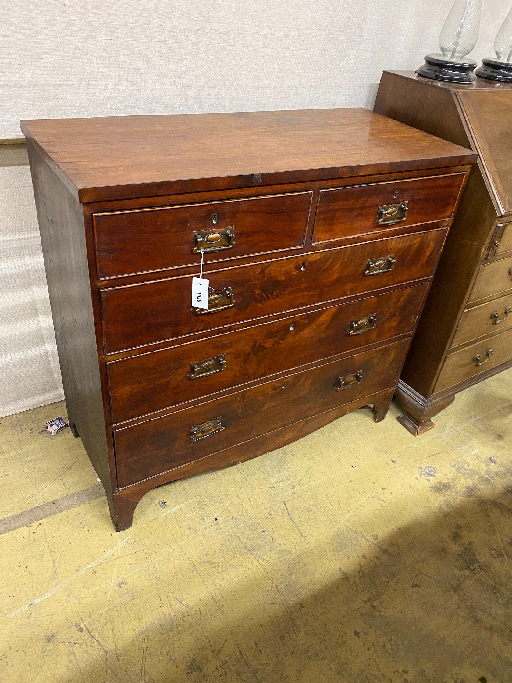
[[[375,111],[479,153],[397,387],[417,435],[512,366],[512,84],[384,72]]]

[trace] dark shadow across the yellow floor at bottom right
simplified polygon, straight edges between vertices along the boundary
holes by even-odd
[[[468,477],[473,483],[457,494],[431,479],[438,515],[418,516],[388,538],[373,535],[373,550],[358,566],[345,566],[355,532],[339,528],[329,542],[339,550],[339,578],[324,589],[283,609],[279,598],[255,602],[236,621],[221,623],[212,610],[208,641],[195,639],[193,611],[186,628],[155,620],[119,653],[113,670],[119,680],[158,683],[510,682],[511,477],[512,470],[496,467],[477,482]],[[494,498],[482,494],[489,484],[500,489]],[[250,604],[251,585],[243,581],[231,605],[236,596]],[[289,582],[287,596],[293,572]],[[201,605],[201,620],[208,609]]]

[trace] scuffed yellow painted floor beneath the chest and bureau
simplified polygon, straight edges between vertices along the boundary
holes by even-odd
[[[512,370],[419,438],[358,410],[117,534],[81,441],[40,432],[64,411],[0,421],[0,519],[78,501],[3,522],[2,683],[512,681]]]

